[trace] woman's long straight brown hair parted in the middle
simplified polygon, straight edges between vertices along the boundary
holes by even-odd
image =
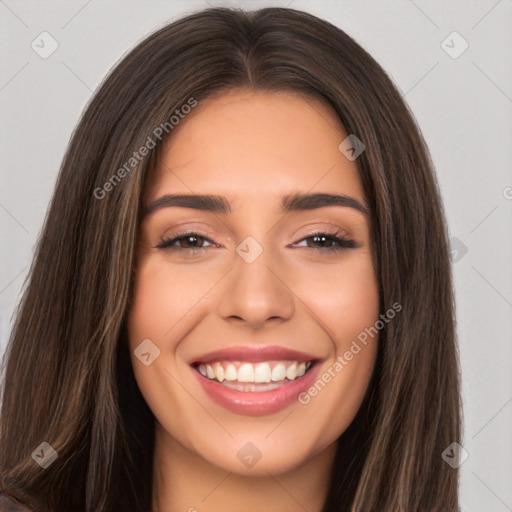
[[[454,297],[428,149],[361,46],[284,8],[207,9],[165,26],[85,109],[4,355],[0,490],[41,512],[150,510],[153,415],[133,376],[125,318],[144,183],[161,143],[130,159],[157,127],[172,137],[169,119],[191,98],[233,88],[319,98],[363,141],[357,166],[381,313],[402,306],[380,333],[371,386],[339,439],[323,511],[456,510],[458,471],[441,457],[461,435]],[[42,442],[58,454],[46,469],[31,456]]]

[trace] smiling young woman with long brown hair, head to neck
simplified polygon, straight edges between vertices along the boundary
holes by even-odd
[[[64,158],[5,355],[3,499],[457,510],[453,303],[428,150],[372,57],[292,9],[183,18]]]

